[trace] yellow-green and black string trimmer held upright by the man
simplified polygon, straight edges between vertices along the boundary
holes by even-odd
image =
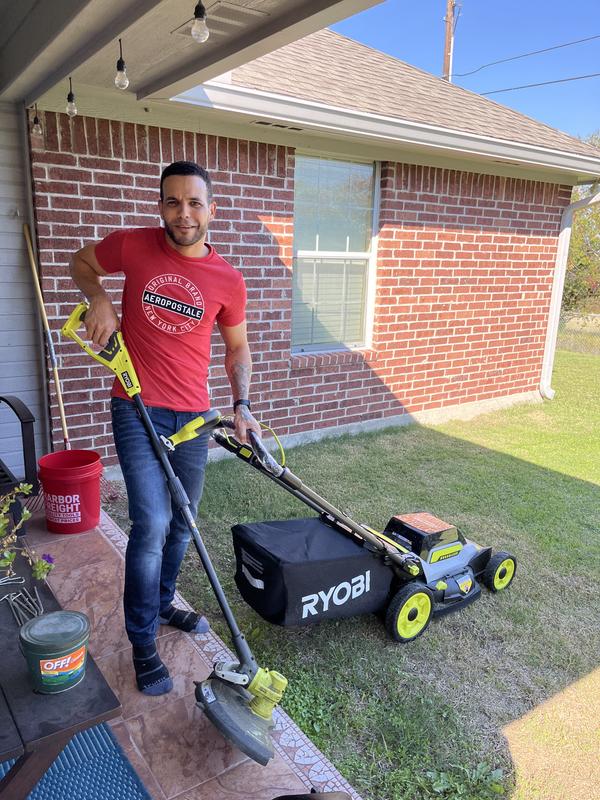
[[[77,342],[92,358],[114,372],[127,395],[135,403],[156,457],[164,470],[173,502],[186,521],[202,566],[231,632],[238,661],[216,662],[207,680],[196,684],[196,702],[226,738],[250,758],[265,765],[274,755],[269,731],[273,725],[273,710],[281,700],[287,679],[279,672],[258,666],[229,607],[190,511],[189,499],[183,485],[169,461],[169,452],[179,444],[195,438],[201,431],[224,425],[226,421],[218,411],[213,410],[196,417],[169,438],[159,436],[142,400],[140,384],[121,332],[115,331],[104,349],[98,353],[78,336],[77,329],[87,309],[86,303],[80,303],[65,323],[62,333]]]

